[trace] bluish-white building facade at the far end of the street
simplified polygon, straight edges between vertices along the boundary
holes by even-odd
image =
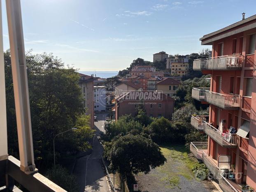
[[[107,107],[107,87],[94,86],[94,111],[106,111]]]

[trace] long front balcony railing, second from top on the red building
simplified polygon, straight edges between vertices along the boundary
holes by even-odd
[[[237,109],[240,107],[240,95],[223,95],[209,90],[204,91],[204,101],[221,109]],[[193,97],[193,96],[192,96]]]

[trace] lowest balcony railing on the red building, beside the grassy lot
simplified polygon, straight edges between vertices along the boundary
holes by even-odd
[[[233,187],[228,180],[223,176],[222,171],[216,164],[210,159],[210,157],[205,153],[207,149],[207,142],[191,142],[190,151],[198,160],[202,160],[205,166],[212,173],[213,177],[219,181],[219,186],[223,192],[238,192],[235,187]]]

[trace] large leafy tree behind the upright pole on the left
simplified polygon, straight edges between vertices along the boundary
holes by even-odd
[[[4,56],[8,153],[19,158],[10,51],[7,50]],[[56,134],[77,128],[55,139],[56,162],[64,164],[64,157],[91,149],[88,141],[94,131],[89,126],[90,117],[84,115],[77,71],[66,69],[60,59],[47,53],[34,55],[29,51],[26,63],[35,164],[44,174],[53,165],[53,139]],[[65,183],[63,180],[60,185]]]

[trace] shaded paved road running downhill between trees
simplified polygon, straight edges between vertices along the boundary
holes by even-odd
[[[95,122],[96,136],[105,132],[104,124],[107,113],[96,114],[98,121]],[[93,152],[87,157],[81,157],[77,160],[74,173],[79,178],[79,192],[109,192],[107,179],[102,169],[100,157],[103,153],[103,148],[95,138],[93,143]]]

